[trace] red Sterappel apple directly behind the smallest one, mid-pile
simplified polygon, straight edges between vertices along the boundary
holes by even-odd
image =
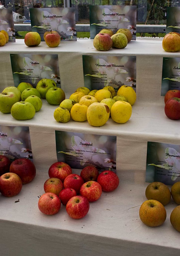
[[[73,188],[76,191],[76,194],[79,194],[80,188],[83,185],[84,180],[78,174],[70,174],[64,180],[64,188]]]

